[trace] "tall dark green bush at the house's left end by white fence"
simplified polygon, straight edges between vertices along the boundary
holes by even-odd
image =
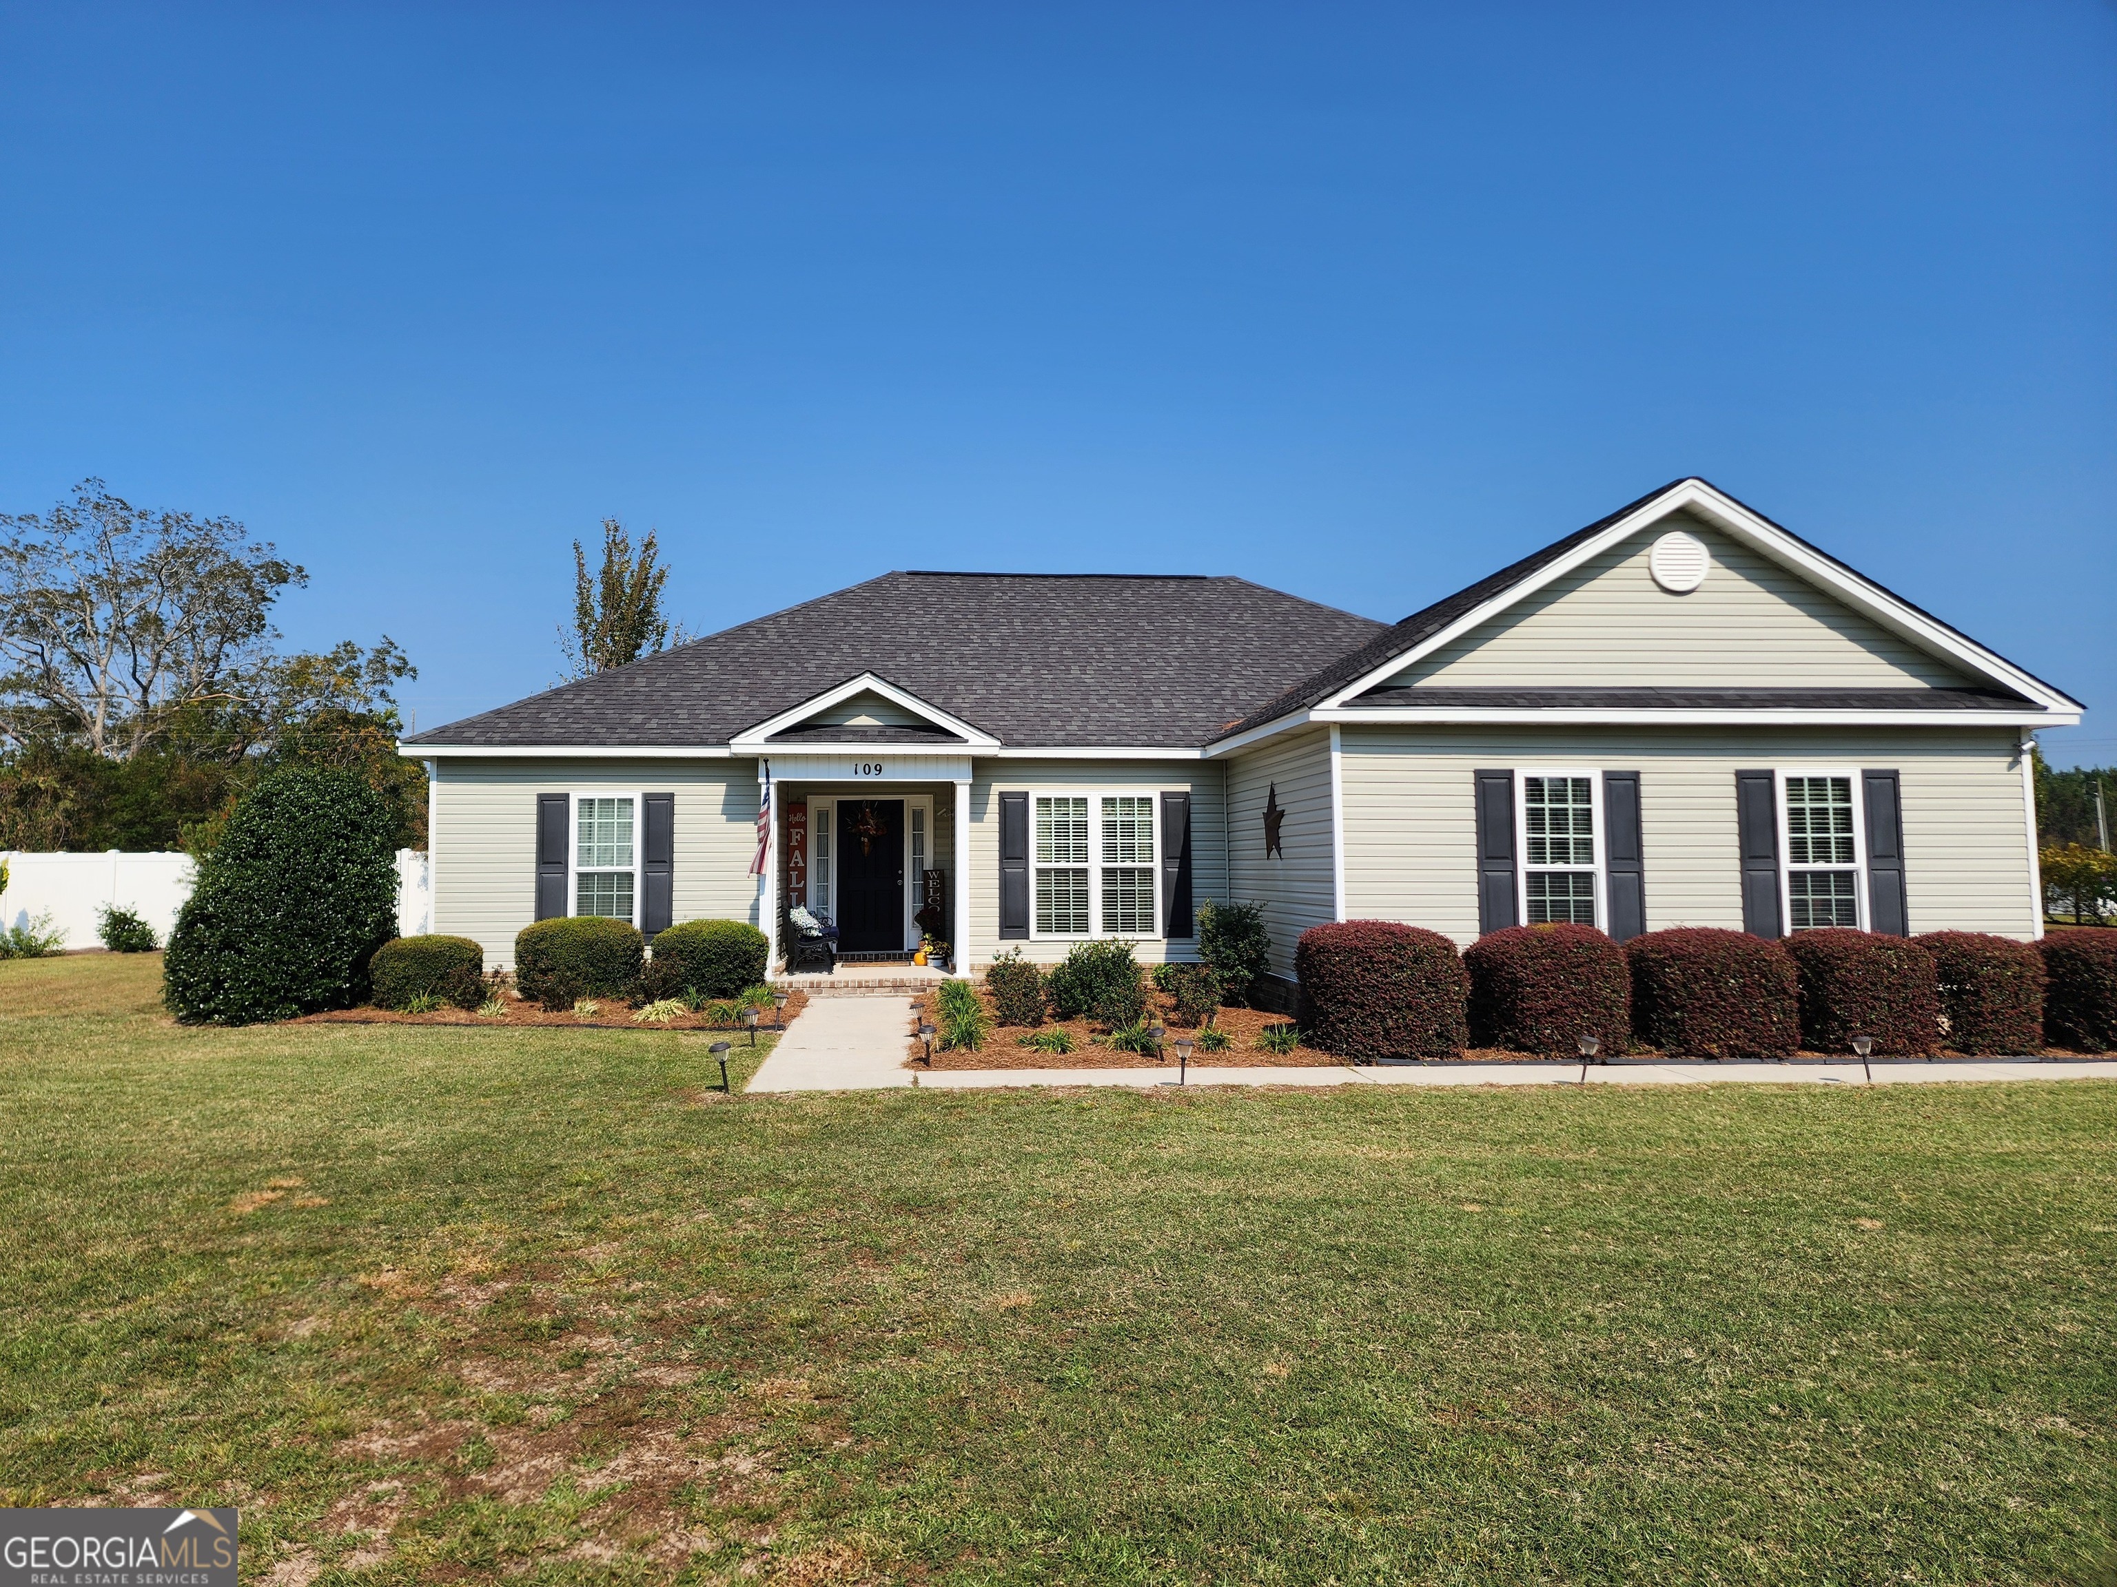
[[[396,810],[351,772],[267,772],[199,865],[169,933],[163,1001],[254,1024],[360,1003],[396,935]]]

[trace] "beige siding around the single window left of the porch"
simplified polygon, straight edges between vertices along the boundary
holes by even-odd
[[[485,946],[512,967],[514,933],[536,918],[536,796],[608,789],[675,794],[677,920],[758,923],[754,760],[447,760],[434,783],[434,931]]]

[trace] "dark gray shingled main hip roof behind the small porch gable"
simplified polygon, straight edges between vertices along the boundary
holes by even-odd
[[[722,745],[874,673],[1008,745],[1190,749],[1382,631],[1241,578],[883,573],[404,743]]]

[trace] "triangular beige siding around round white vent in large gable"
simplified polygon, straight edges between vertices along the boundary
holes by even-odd
[[[1706,582],[1653,582],[1653,542],[1687,529]],[[1833,595],[1675,514],[1450,641],[1393,683],[1456,688],[1960,688],[1969,679]]]

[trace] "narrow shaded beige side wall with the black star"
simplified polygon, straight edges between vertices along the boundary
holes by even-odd
[[[1264,853],[1264,806],[1279,791],[1287,813],[1281,855]],[[1228,897],[1262,904],[1272,931],[1272,971],[1293,975],[1293,944],[1334,916],[1329,732],[1274,738],[1228,762]]]

